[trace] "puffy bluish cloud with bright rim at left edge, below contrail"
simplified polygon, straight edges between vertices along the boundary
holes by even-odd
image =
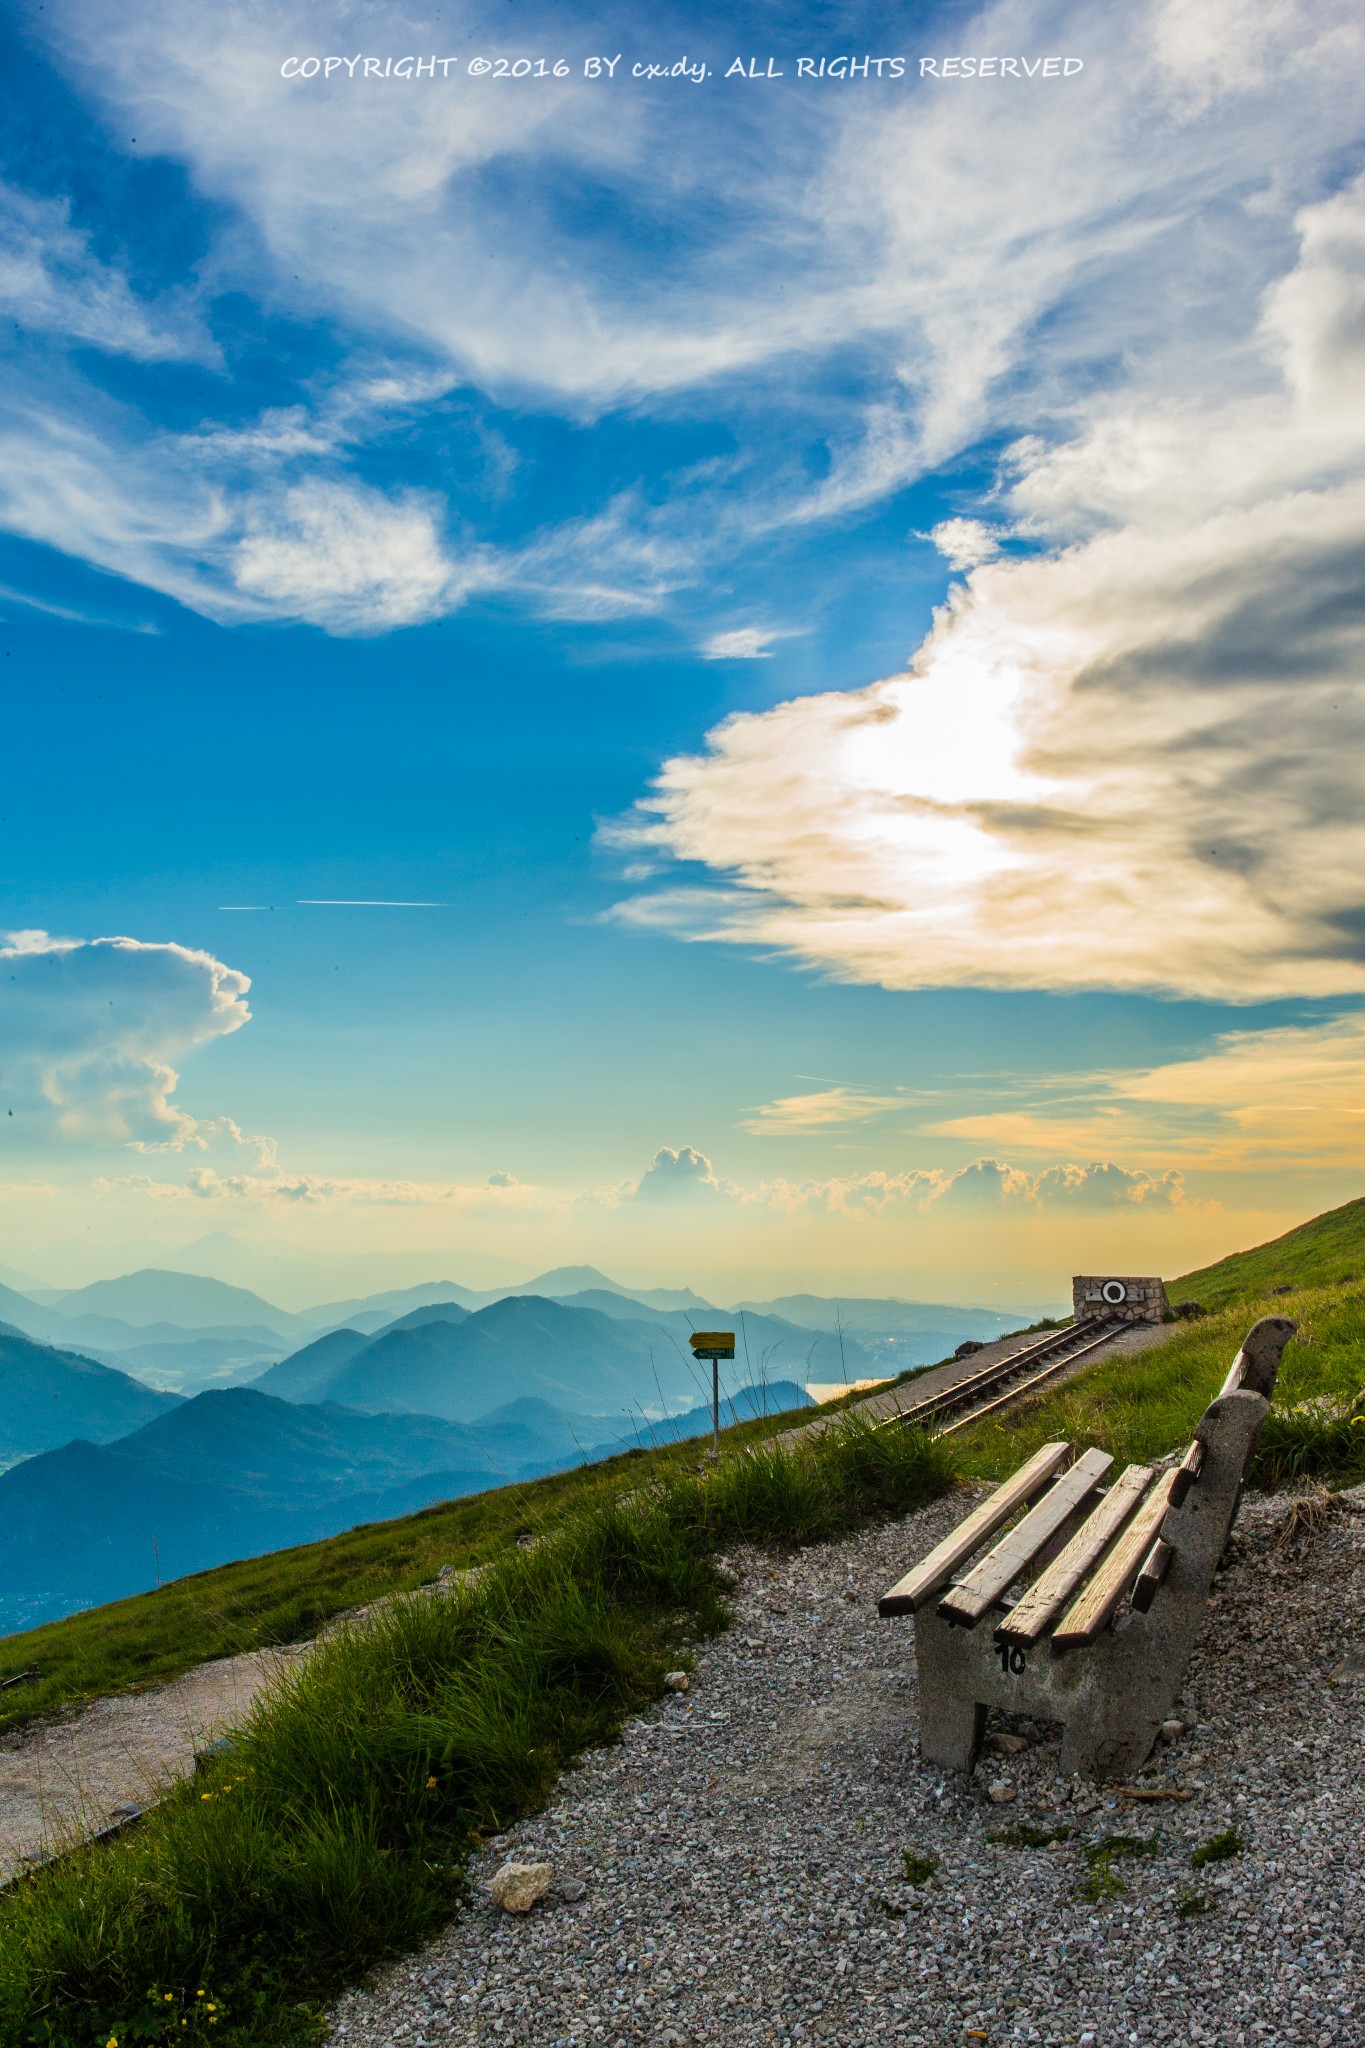
[[[250,981],[211,952],[139,938],[10,932],[0,944],[0,1073],[10,1106],[86,1145],[137,1151],[256,1145],[231,1118],[196,1118],[172,1098],[178,1063],[241,1030]]]

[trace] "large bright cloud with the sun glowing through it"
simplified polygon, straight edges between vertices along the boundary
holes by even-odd
[[[665,766],[616,838],[726,872],[688,936],[886,987],[1365,989],[1365,180],[1300,246],[1254,389],[1019,446],[1038,553],[907,674]]]

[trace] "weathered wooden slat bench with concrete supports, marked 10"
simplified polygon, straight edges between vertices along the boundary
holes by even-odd
[[[878,1604],[915,1616],[919,1741],[970,1769],[986,1712],[1060,1720],[1062,1769],[1132,1778],[1171,1714],[1295,1325],[1267,1315],[1175,1462],[1044,1444]],[[1111,1481],[1105,1485],[1105,1481]],[[1005,1532],[1005,1534],[1001,1534]]]

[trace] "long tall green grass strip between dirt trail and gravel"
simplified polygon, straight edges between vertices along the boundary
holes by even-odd
[[[726,1624],[720,1544],[833,1536],[952,1481],[917,1432],[841,1421],[591,1495],[454,1591],[352,1622],[137,1833],[0,1898],[0,2040],[313,2038],[323,1999],[456,1911],[479,1839]]]

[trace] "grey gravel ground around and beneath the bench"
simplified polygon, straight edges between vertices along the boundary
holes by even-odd
[[[962,1511],[958,1495],[780,1567],[739,1559],[735,1628],[692,1694],[489,1843],[469,1911],[340,2001],[334,2048],[1359,2048],[1365,1516],[1330,1516],[1300,1552],[1277,1546],[1285,1501],[1246,1503],[1187,1679],[1193,1726],[1144,1780],[1193,1798],[1128,1804],[1064,1784],[1027,1724],[1029,1747],[970,1782],[917,1759],[913,1624],[874,1602]],[[1021,1823],[1074,1835],[990,1841]],[[1240,1853],[1195,1870],[1228,1829]],[[1150,1853],[1095,1860],[1111,1835]],[[905,1851],[935,1862],[925,1882]],[[555,1866],[528,1917],[487,1898],[510,1855]],[[1203,1911],[1181,1913],[1191,1898]]]

